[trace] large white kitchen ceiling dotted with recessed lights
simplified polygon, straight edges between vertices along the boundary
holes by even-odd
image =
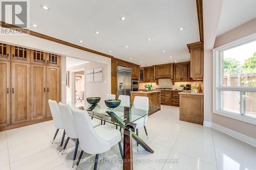
[[[142,66],[188,61],[186,44],[200,41],[193,0],[38,0],[30,1],[30,18],[33,31]]]

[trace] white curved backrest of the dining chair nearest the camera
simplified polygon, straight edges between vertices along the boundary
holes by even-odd
[[[110,142],[102,140],[94,131],[86,110],[72,108],[80,148],[88,154],[99,154],[111,149]]]

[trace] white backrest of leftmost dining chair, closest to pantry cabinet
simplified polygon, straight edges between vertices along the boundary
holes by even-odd
[[[57,129],[64,129],[58,103],[56,101],[52,101],[51,99],[49,99],[48,104],[52,113],[54,126]]]

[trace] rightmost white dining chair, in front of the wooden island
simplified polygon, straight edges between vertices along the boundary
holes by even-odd
[[[131,114],[134,118],[136,116],[148,114],[148,98],[144,96],[135,96],[133,106],[131,108]],[[139,136],[139,128],[144,127],[146,137],[148,138],[146,130],[147,115],[139,118],[138,120],[135,120],[133,123],[136,124],[135,129],[137,136]],[[137,142],[137,150],[138,147],[139,143]]]

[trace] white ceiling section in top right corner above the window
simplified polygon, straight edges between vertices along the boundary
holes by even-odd
[[[256,18],[256,0],[224,0],[217,36]]]

